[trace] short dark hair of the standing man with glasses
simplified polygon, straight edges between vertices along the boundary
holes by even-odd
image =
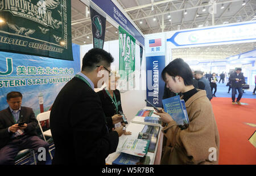
[[[114,58],[110,53],[103,49],[90,49],[82,58],[82,70],[88,69],[92,71],[94,67],[100,62],[105,62],[105,66],[109,67],[110,63],[114,62]]]

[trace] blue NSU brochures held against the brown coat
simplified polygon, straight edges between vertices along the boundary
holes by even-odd
[[[175,96],[166,98],[162,100],[162,102],[164,111],[171,115],[177,125],[182,129],[187,128],[189,125],[189,119],[184,100],[180,100],[180,96]]]

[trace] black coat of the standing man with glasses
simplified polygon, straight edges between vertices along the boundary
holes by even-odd
[[[76,77],[57,95],[50,125],[55,144],[52,164],[104,165],[118,145],[118,133],[108,131],[97,93]]]

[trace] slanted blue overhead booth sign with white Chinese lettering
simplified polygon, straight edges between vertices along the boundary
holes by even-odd
[[[136,40],[138,40],[144,46],[144,37],[111,0],[92,0],[92,2],[100,7],[106,14],[110,16],[110,18],[121,25],[122,28],[129,32],[130,35],[134,36],[134,38],[136,38]]]

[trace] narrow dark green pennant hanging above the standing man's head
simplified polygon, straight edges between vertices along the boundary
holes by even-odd
[[[92,20],[93,48],[103,49],[106,18],[90,6],[90,19]]]

